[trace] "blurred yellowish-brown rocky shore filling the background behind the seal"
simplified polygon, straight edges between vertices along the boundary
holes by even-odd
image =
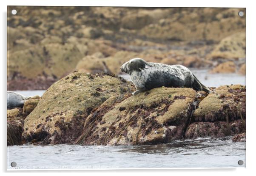
[[[9,6],[7,88],[45,90],[131,58],[245,75],[244,8]]]

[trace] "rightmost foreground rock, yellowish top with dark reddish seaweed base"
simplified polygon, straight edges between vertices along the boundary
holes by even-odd
[[[213,89],[198,105],[185,138],[220,137],[245,132],[245,86]]]

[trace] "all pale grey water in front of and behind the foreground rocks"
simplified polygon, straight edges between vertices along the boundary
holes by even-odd
[[[245,85],[245,76],[208,74],[192,70],[208,87]],[[127,75],[122,75],[129,80]],[[42,91],[16,91],[24,96],[42,96]],[[231,137],[177,140],[154,146],[9,146],[8,169],[95,169],[95,168],[230,168],[245,167],[245,143]],[[11,162],[16,162],[15,168]]]

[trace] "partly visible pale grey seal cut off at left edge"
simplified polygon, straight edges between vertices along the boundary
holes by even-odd
[[[30,97],[23,96],[20,93],[7,91],[7,109],[23,107],[25,100],[29,98]]]

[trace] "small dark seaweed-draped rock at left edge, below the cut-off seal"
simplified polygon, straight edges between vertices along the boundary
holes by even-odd
[[[22,144],[24,118],[21,108],[7,110],[7,146]]]

